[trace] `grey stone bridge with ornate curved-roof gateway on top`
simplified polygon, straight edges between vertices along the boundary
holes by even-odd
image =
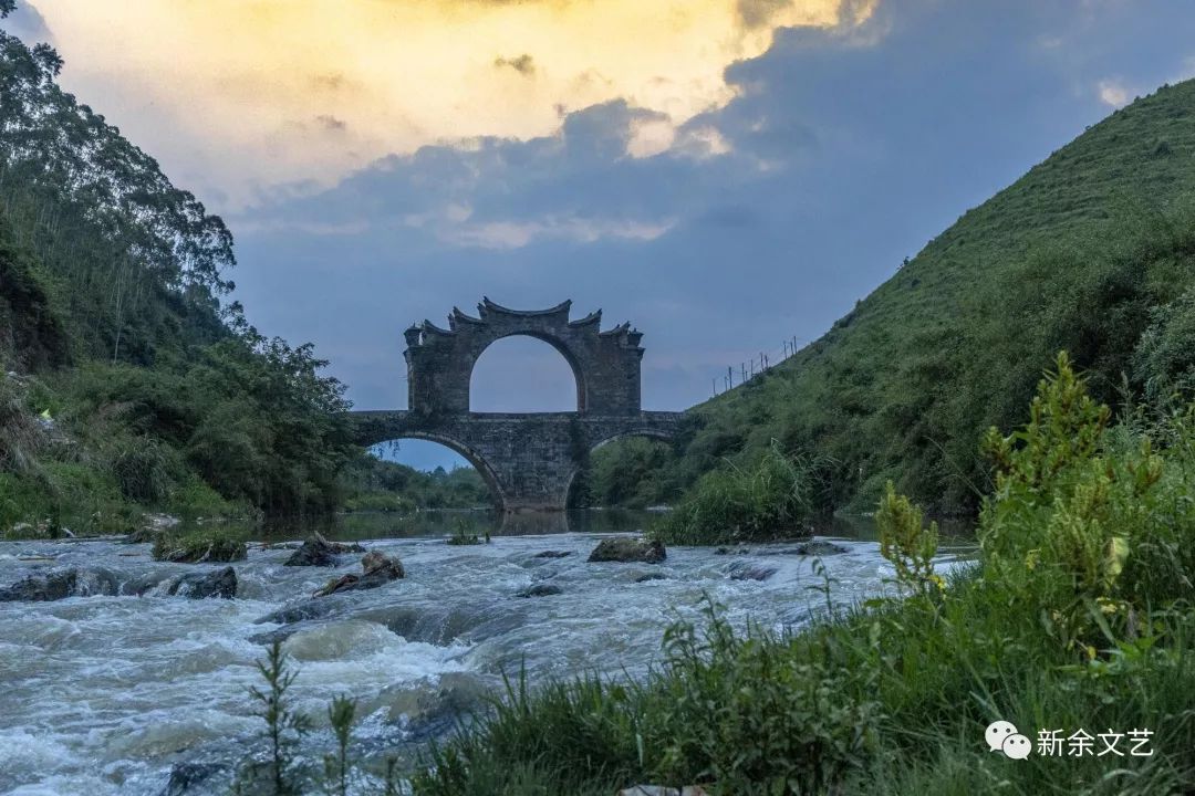
[[[642,409],[638,329],[623,323],[602,332],[601,310],[570,321],[571,306],[516,310],[483,298],[477,317],[454,307],[447,329],[431,321],[411,326],[403,354],[410,408],[353,412],[356,442],[441,443],[478,469],[507,513],[563,511],[590,450],[619,437],[672,438],[684,416]],[[576,377],[576,412],[470,412],[473,365],[491,344],[513,335],[560,352]]]

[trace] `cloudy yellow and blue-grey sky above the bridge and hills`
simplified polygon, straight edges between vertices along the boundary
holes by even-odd
[[[644,406],[685,408],[1195,76],[1190,0],[32,0],[7,24],[225,217],[251,320],[360,408],[403,408],[403,329],[483,295],[632,321]],[[501,341],[474,408],[574,389]]]

